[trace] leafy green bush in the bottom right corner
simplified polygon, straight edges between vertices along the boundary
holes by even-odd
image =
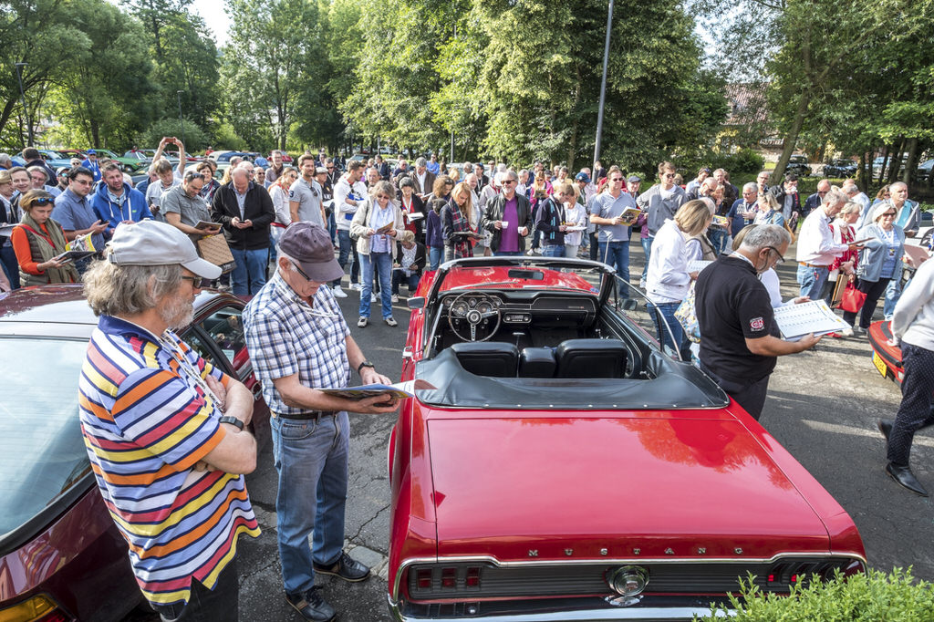
[[[934,589],[927,581],[915,582],[912,569],[891,573],[872,571],[830,581],[814,580],[791,587],[788,596],[763,593],[752,577],[740,581],[743,600],[730,596],[728,608],[735,622],[930,622],[934,620]],[[714,619],[715,615],[703,619]],[[697,618],[696,618],[697,619]],[[722,619],[722,618],[719,618]]]

